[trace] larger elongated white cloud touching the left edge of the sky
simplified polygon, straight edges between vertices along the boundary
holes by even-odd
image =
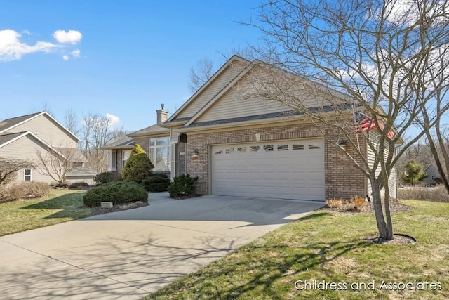
[[[28,45],[20,41],[21,34],[10,29],[0,30],[0,61],[20,60],[22,56],[34,52],[50,52],[58,45],[47,41],[36,41]]]

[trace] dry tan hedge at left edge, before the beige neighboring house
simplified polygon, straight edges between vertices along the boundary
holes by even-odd
[[[0,199],[2,202],[26,198],[39,198],[47,195],[50,185],[38,181],[25,181],[11,185],[2,185]]]

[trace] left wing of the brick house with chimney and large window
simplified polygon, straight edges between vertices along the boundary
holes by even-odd
[[[157,124],[130,133],[127,135],[128,138],[102,147],[103,150],[109,151],[108,171],[121,173],[134,145],[139,144],[154,164],[153,171],[170,176],[172,160],[170,129],[159,126],[166,122],[168,117],[168,111],[163,109],[163,105],[161,110],[156,110],[156,117]]]

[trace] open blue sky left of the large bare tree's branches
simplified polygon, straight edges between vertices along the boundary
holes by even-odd
[[[252,1],[0,1],[0,120],[111,114],[126,130],[189,98],[189,69],[257,43]]]

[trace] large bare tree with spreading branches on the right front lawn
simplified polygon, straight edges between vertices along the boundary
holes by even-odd
[[[273,0],[260,6],[259,21],[252,25],[266,44],[254,50],[268,64],[255,63],[253,74],[262,71],[243,96],[280,102],[316,124],[370,181],[377,229],[391,240],[389,176],[448,110],[444,97],[432,109],[448,89],[448,1]],[[366,128],[382,130],[358,126],[354,134],[351,110],[368,116]],[[424,130],[403,143],[416,126]]]

